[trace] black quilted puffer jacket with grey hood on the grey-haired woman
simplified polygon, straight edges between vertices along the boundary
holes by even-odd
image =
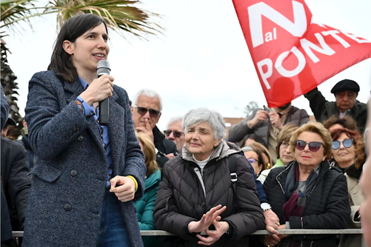
[[[221,142],[203,169],[202,181],[197,176],[201,173],[196,172],[200,167],[185,147],[182,155],[170,159],[164,166],[164,176],[157,192],[154,208],[156,229],[180,236],[179,246],[199,246],[196,234],[188,232],[188,223],[200,220],[210,208],[221,204],[227,206],[220,216],[221,221],[229,223],[231,236],[220,238],[212,246],[228,246],[229,243],[247,246],[247,239],[243,237],[264,229],[265,224],[253,175],[246,158],[237,152],[239,150]],[[237,155],[236,195],[230,177],[229,155]],[[237,213],[236,206],[242,210],[241,213]],[[174,244],[170,243],[170,246]]]

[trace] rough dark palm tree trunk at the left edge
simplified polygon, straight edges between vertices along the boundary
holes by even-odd
[[[4,94],[10,106],[10,116],[18,123],[22,121],[22,116],[19,115],[19,108],[17,105],[17,98],[13,94],[17,94],[18,83],[15,82],[17,76],[14,75],[13,70],[10,68],[7,60],[7,52],[9,50],[5,46],[6,43],[0,33],[0,83],[3,86]]]

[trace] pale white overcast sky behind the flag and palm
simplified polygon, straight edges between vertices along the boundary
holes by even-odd
[[[40,0],[43,2],[43,0]],[[164,16],[164,35],[149,41],[130,38],[130,43],[110,32],[109,60],[115,84],[132,98],[141,88],[157,90],[164,107],[158,127],[189,109],[207,107],[224,117],[243,117],[250,101],[260,106],[266,100],[247,49],[232,0],[145,0],[143,8]],[[321,23],[371,40],[371,1],[307,0],[314,18]],[[33,32],[22,24],[18,32],[7,30],[4,38],[12,54],[8,60],[19,83],[18,105],[24,115],[28,82],[36,72],[46,70],[56,39],[56,16],[36,18]],[[3,30],[1,30],[3,31]],[[361,87],[358,100],[370,96],[371,61],[365,60],[319,86],[329,101],[336,82],[353,79]],[[301,96],[293,105],[306,109]]]

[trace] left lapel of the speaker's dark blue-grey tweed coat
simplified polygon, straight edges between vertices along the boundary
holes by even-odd
[[[65,89],[66,92],[66,100],[67,103],[74,102],[75,99],[85,90],[78,77],[76,77],[72,83],[70,82],[64,82],[65,85],[63,88]],[[101,139],[101,134],[99,134],[99,129],[98,126],[96,125],[95,119],[93,116],[88,118],[89,121],[89,132],[93,136],[93,139],[95,142],[98,144],[99,149],[103,156],[106,156],[106,152],[102,146],[102,139]]]

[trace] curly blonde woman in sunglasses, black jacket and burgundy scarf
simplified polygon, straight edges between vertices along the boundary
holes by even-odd
[[[279,229],[347,228],[351,213],[347,181],[330,167],[332,138],[321,123],[293,132],[289,148],[296,161],[272,169],[264,183],[267,200],[280,219]],[[336,247],[335,236],[267,235],[265,246]]]

